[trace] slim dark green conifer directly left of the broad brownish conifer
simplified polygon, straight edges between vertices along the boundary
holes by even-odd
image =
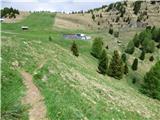
[[[106,50],[103,50],[99,58],[98,70],[101,74],[105,75],[107,73],[107,68],[108,68],[108,57]]]

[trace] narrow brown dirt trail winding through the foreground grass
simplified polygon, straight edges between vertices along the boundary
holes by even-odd
[[[21,71],[24,84],[27,87],[26,96],[22,100],[23,104],[31,105],[29,109],[29,120],[48,120],[46,118],[46,108],[38,88],[32,81],[32,75]]]

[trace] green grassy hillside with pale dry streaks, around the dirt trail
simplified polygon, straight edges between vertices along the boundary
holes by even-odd
[[[76,41],[80,50],[77,58],[70,52],[72,41],[65,40],[63,34],[85,32],[92,38],[102,36],[105,44],[109,44],[109,57],[115,49],[124,51],[123,46],[117,45],[117,39],[105,31],[53,27],[54,19],[55,14],[32,13],[21,22],[2,23],[2,76],[5,76],[2,77],[2,100],[11,101],[2,101],[2,113],[14,108],[24,95],[24,85],[18,73],[23,69],[34,76],[34,83],[44,96],[47,116],[51,120],[160,119],[160,102],[141,94],[138,86],[132,84],[133,77],[142,80],[145,72],[159,59],[158,50],[154,53],[157,56],[155,62],[150,63],[146,59],[140,63],[137,72],[130,70],[128,76],[116,80],[96,72],[97,60],[90,55],[92,40]],[[22,25],[29,26],[29,30],[22,31]],[[49,41],[49,36],[52,41]],[[120,39],[122,44],[129,41],[125,36]],[[130,65],[137,56],[138,50],[129,56]],[[18,62],[18,68],[13,65],[15,61]],[[17,77],[14,79],[12,74]],[[8,89],[15,95],[9,94]],[[13,96],[17,97],[10,100]],[[11,103],[13,106],[5,107]],[[21,116],[21,119],[25,117]]]

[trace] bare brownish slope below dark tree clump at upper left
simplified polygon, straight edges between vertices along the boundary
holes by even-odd
[[[21,20],[25,19],[30,13],[29,12],[20,12],[19,15],[16,15],[16,18],[5,18],[5,23],[16,23],[20,22]]]

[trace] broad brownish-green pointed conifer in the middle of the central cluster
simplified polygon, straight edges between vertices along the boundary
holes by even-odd
[[[123,62],[118,51],[114,51],[114,55],[109,65],[108,75],[116,79],[122,79],[123,73]]]

